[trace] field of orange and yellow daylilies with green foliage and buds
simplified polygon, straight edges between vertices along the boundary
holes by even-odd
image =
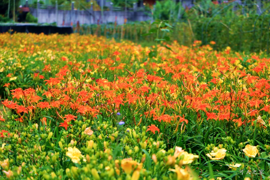
[[[1,179],[270,179],[270,55],[214,44],[0,34]]]

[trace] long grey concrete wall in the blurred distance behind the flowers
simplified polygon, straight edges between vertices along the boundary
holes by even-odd
[[[58,10],[58,15],[56,15],[56,9],[31,9],[31,13],[38,18],[38,23],[57,22],[57,25],[62,25],[63,21],[65,21],[65,25],[70,25],[71,22],[76,24],[77,21],[79,21],[80,24],[97,24],[98,21],[99,23],[114,23],[116,18],[117,24],[123,24],[125,19],[124,11],[104,11],[103,19],[101,18],[101,11],[91,10]],[[127,22],[147,20],[151,20],[147,12],[127,12]]]

